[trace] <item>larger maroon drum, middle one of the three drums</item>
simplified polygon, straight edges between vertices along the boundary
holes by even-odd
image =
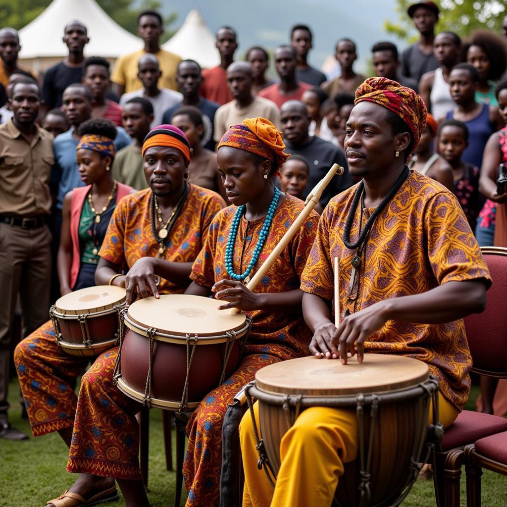
[[[118,388],[148,406],[196,408],[237,368],[250,328],[244,313],[221,311],[219,304],[182,294],[130,305],[114,377]]]

